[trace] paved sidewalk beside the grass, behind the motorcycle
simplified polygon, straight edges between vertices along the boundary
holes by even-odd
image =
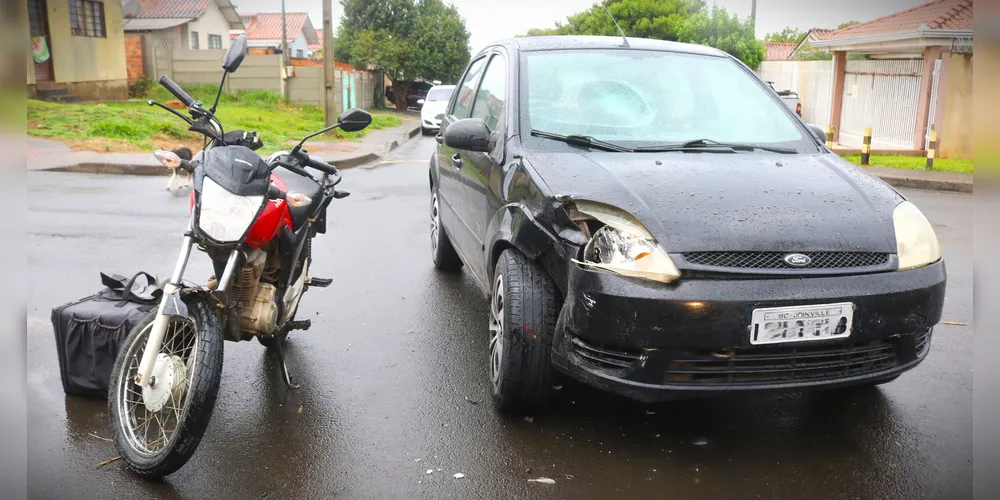
[[[416,116],[401,116],[399,127],[372,130],[357,142],[318,141],[306,143],[309,154],[319,156],[337,168],[351,168],[378,160],[389,154],[399,144],[420,133],[420,120]],[[153,158],[153,152],[98,153],[73,151],[66,144],[39,137],[28,137],[28,170],[55,172],[85,172],[128,175],[170,175]]]

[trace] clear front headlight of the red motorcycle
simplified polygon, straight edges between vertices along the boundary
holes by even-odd
[[[198,228],[220,243],[239,241],[253,224],[263,196],[240,196],[205,177],[201,189]]]

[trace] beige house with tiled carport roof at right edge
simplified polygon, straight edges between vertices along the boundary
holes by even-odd
[[[971,156],[972,4],[973,0],[935,0],[827,33],[811,42],[812,47],[833,54],[830,121],[834,139],[839,139],[842,109],[848,107],[845,99],[857,99],[858,95],[857,85],[850,92],[845,89],[845,78],[850,73],[847,54],[866,53],[882,59],[913,61],[910,65],[919,70],[913,76],[920,81],[913,149],[923,150],[933,132],[940,155]],[[874,72],[865,76],[880,75]]]

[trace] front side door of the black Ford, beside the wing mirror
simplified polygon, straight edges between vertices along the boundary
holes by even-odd
[[[466,198],[462,200],[462,217],[472,229],[474,239],[472,244],[478,250],[477,257],[472,258],[474,262],[470,262],[469,265],[484,283],[488,281],[489,276],[486,269],[484,241],[492,217],[487,199],[489,180],[490,172],[503,164],[506,101],[507,61],[504,54],[498,52],[490,56],[483,79],[476,91],[471,115],[472,118],[483,120],[496,146],[488,153],[458,151],[463,165],[462,180],[466,185]]]

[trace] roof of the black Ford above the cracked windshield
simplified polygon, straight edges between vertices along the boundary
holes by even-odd
[[[706,45],[669,42],[666,40],[652,40],[649,38],[628,38],[629,46],[622,47],[622,38],[620,36],[525,36],[497,40],[496,42],[489,44],[487,48],[496,45],[512,47],[523,52],[532,52],[537,50],[634,49],[660,50],[708,56],[727,56],[725,52]]]

